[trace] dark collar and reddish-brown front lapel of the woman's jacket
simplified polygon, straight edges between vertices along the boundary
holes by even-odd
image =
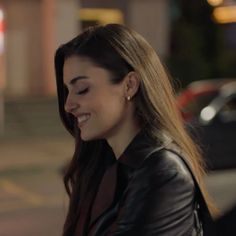
[[[143,163],[147,157],[147,154],[153,150],[153,147],[161,148],[161,145],[158,144],[156,140],[147,136],[145,131],[141,131],[134,137],[120,158],[115,161],[115,163],[113,162],[112,165],[108,166],[101,180],[98,193],[93,203],[88,235],[95,235],[94,232],[98,232],[98,223],[100,222],[99,219],[101,219],[101,217],[105,217],[103,213],[105,213],[115,201],[116,188],[119,187],[117,175],[119,175],[119,182],[122,182],[122,185],[124,185],[122,186],[122,191],[124,192],[133,170],[138,168]],[[122,168],[119,168],[119,173],[117,173],[118,166],[123,166]],[[121,169],[124,173],[120,172]],[[96,235],[99,235],[99,233],[96,233]]]

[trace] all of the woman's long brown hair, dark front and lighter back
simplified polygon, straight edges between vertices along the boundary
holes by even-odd
[[[70,206],[63,235],[71,235],[75,229],[84,199],[94,197],[104,172],[104,157],[110,152],[105,141],[83,142],[73,118],[64,111],[67,91],[63,86],[63,63],[72,55],[86,56],[109,70],[113,83],[122,81],[129,71],[137,73],[140,79],[140,88],[134,97],[137,117],[141,124],[148,127],[152,137],[161,140],[160,134],[164,132],[180,147],[214,215],[214,207],[203,181],[205,171],[200,150],[184,128],[170,78],[160,59],[137,32],[122,25],[108,24],[87,29],[59,48],[56,54],[60,114],[67,129],[75,136],[76,144],[74,157],[64,177]]]

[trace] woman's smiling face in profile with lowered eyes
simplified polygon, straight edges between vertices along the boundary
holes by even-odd
[[[77,120],[83,140],[109,139],[119,132],[126,114],[124,84],[112,84],[108,70],[86,57],[65,60],[64,84],[68,88],[65,110]]]

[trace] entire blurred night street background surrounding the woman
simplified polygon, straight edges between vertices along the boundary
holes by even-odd
[[[60,235],[61,168],[73,139],[60,123],[58,46],[94,24],[142,34],[171,74],[222,212],[236,202],[236,0],[0,0],[0,235]]]

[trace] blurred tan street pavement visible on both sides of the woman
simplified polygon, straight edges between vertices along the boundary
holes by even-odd
[[[61,168],[73,154],[64,135],[0,139],[0,235],[61,235],[68,197]],[[236,169],[209,173],[209,192],[225,212],[236,202]]]

